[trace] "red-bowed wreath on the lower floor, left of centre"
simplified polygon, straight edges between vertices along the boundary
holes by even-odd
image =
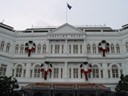
[[[45,63],[41,64],[40,72],[44,73],[44,80],[47,80],[48,72],[52,72],[52,64],[49,64],[48,61],[45,61]]]

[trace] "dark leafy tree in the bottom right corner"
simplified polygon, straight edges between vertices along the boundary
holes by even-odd
[[[128,75],[121,75],[115,90],[115,96],[125,96],[128,93]]]

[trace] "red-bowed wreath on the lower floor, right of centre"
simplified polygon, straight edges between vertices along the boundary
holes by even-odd
[[[92,68],[92,65],[88,64],[88,62],[84,62],[83,64],[80,65],[81,74],[84,73],[86,81],[88,80],[88,73],[92,71],[91,68]]]

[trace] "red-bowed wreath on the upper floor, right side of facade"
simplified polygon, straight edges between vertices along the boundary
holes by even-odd
[[[103,57],[105,57],[105,53],[109,52],[109,43],[105,40],[102,40],[99,43],[99,52],[103,52]]]

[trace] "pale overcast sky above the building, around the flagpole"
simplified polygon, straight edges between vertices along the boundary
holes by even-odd
[[[128,23],[128,0],[0,0],[0,22],[24,30],[33,26],[104,25],[119,29]]]

